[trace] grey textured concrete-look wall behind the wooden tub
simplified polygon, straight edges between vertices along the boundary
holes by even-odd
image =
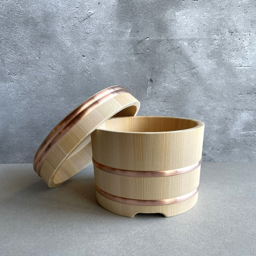
[[[140,115],[205,122],[205,161],[255,160],[255,13],[254,0],[1,0],[0,162],[31,163],[112,85]]]

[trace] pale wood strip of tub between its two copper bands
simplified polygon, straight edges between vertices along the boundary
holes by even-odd
[[[140,200],[174,198],[199,185],[200,166],[192,172],[167,177],[129,177],[104,172],[94,166],[94,182],[112,195]]]

